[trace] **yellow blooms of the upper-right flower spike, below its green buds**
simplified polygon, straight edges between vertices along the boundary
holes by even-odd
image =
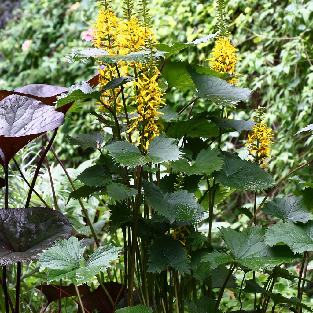
[[[236,56],[236,49],[230,41],[230,38],[225,37],[228,33],[225,33],[224,36],[217,38],[215,40],[215,48],[212,49],[211,54],[212,58],[210,60],[210,68],[214,69],[219,73],[228,73],[231,75],[239,75],[241,73],[235,72],[235,66],[240,58]],[[229,84],[238,85],[238,79],[236,77],[228,80]]]

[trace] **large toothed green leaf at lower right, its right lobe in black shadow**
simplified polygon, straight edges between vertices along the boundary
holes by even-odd
[[[264,229],[261,227],[249,227],[242,232],[222,227],[220,231],[233,257],[220,252],[207,254],[203,262],[208,262],[211,269],[220,264],[235,262],[249,269],[261,271],[283,262],[291,263],[295,259],[291,251],[284,246],[268,247],[264,241]]]

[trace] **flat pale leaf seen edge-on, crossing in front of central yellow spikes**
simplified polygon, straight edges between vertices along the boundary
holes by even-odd
[[[160,59],[161,57],[165,58],[164,51],[154,50],[153,59]],[[72,49],[72,53],[65,56],[65,59],[69,63],[74,63],[75,61],[82,61],[86,63],[87,59],[93,58],[96,61],[101,61],[105,64],[115,64],[120,61],[130,62],[135,61],[136,63],[148,63],[150,62],[150,50],[137,51],[125,55],[109,55],[104,49],[85,49],[78,51]]]

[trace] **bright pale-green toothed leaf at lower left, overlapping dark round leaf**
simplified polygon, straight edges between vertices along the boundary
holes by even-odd
[[[53,280],[67,278],[74,285],[81,285],[109,267],[110,262],[118,258],[121,250],[121,247],[115,248],[111,245],[99,247],[82,267],[80,263],[85,251],[82,243],[75,237],[59,240],[50,249],[39,254],[39,271],[48,269],[48,284]]]

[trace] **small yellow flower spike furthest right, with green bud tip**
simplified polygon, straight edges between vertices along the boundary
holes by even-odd
[[[268,128],[264,122],[264,115],[263,107],[256,109],[254,121],[257,123],[248,134],[248,141],[245,144],[245,146],[249,146],[249,155],[253,157],[251,161],[260,164],[261,168],[265,168],[268,163],[266,159],[271,158],[269,153],[274,143],[271,140],[274,138],[274,134],[271,133],[272,129]]]

